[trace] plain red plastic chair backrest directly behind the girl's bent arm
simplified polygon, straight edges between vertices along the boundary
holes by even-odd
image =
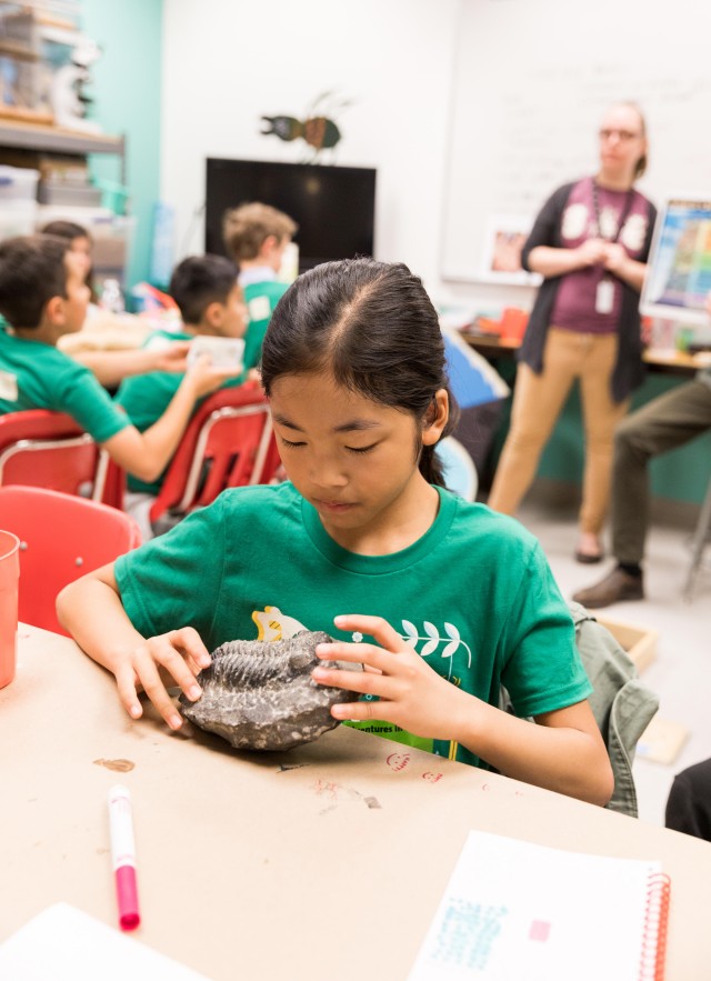
[[[20,539],[19,619],[56,633],[59,591],[141,543],[124,511],[36,487],[0,487],[0,528]]]

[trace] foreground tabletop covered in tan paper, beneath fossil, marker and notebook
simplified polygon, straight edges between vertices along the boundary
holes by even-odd
[[[346,728],[252,757],[132,722],[72,641],[22,624],[0,761],[0,941],[60,900],[116,924],[106,797],[123,782],[136,935],[216,981],[404,981],[471,828],[660,859],[667,977],[709,975],[711,844]]]

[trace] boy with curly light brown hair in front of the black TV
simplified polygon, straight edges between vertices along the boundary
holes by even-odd
[[[299,227],[283,211],[252,201],[228,211],[222,230],[228,254],[239,266],[239,283],[249,311],[244,367],[254,368],[274,307],[289,289],[277,274]]]

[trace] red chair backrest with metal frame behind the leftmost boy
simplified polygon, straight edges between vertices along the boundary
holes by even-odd
[[[17,483],[122,508],[126,474],[71,416],[29,409],[0,416],[0,487]]]

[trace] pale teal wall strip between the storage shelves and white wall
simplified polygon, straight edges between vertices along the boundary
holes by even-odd
[[[148,279],[153,206],[160,190],[160,104],[163,0],[83,0],[81,27],[103,53],[91,70],[90,116],[106,133],[127,138],[127,184],[136,216],[128,286]],[[91,170],[120,180],[120,163],[93,154]]]

